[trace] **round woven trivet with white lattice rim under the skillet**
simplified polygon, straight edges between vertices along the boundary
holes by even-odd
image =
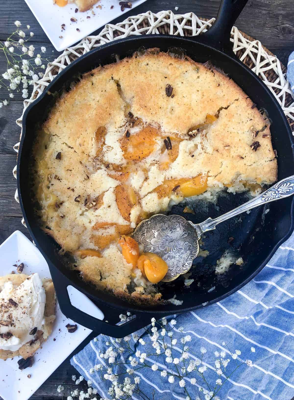
[[[48,64],[43,78],[35,82],[31,98],[24,100],[24,110],[42,94],[46,86],[52,82],[59,72],[92,48],[109,43],[117,38],[125,38],[131,35],[199,35],[206,32],[214,21],[215,18],[211,18],[210,20],[199,18],[192,12],[181,15],[173,14],[172,11],[161,11],[157,14],[148,11],[143,14],[131,16],[116,25],[107,24],[99,35],[87,36],[77,45],[64,50],[56,60]],[[254,71],[272,93],[274,93],[294,132],[294,96],[286,80],[286,68],[284,65],[280,63],[274,54],[262,46],[258,40],[244,34],[236,26],[232,28],[230,40],[238,58]],[[24,111],[22,116],[23,114]],[[22,116],[16,120],[16,123],[21,128]],[[19,143],[14,146],[16,152],[18,152],[18,146]],[[16,178],[16,166],[13,169],[13,174]],[[19,202],[17,190],[14,197]],[[22,220],[22,223],[24,224],[24,220]]]

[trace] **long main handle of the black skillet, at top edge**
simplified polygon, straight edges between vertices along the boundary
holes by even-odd
[[[248,0],[222,0],[215,23],[205,34],[208,44],[226,53],[233,53],[230,45],[232,26]],[[234,55],[235,56],[235,55]]]

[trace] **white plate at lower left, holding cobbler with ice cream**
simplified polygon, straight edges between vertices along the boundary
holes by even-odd
[[[24,263],[24,274],[38,272],[40,278],[50,278],[50,270],[40,251],[18,230],[0,246],[0,276],[16,272],[13,264]],[[69,286],[70,297],[74,292],[74,306],[87,309],[88,314],[103,319],[103,313],[82,293]],[[66,290],[66,288],[65,288]],[[25,370],[18,369],[18,360],[0,360],[0,396],[4,400],[27,400],[56,370],[56,368],[74,351],[74,349],[92,332],[81,325],[74,333],[68,333],[66,324],[74,321],[66,318],[56,304],[56,320],[52,334],[42,344],[34,356],[34,364]],[[55,339],[55,340],[54,340]],[[28,374],[31,378],[28,378]]]

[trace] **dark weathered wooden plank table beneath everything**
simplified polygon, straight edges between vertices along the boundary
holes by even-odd
[[[113,0],[116,2],[117,0]],[[216,16],[220,0],[147,0],[135,10],[113,21],[119,22],[128,15],[139,14],[151,10],[174,10],[179,7],[178,13],[184,14],[193,11],[198,16],[211,18]],[[38,24],[36,18],[24,2],[24,0],[1,0],[0,16],[0,40],[4,41],[14,30],[14,21],[20,20],[23,26],[29,24],[34,32],[33,44],[36,48],[46,46],[46,54],[58,56],[58,52],[49,42],[46,34]],[[276,54],[284,65],[287,65],[288,56],[294,50],[294,6],[293,0],[249,0],[236,26],[248,35],[260,40],[264,46]],[[96,32],[98,33],[99,30]],[[0,53],[0,73],[6,70],[6,60]],[[7,92],[0,88],[0,99],[7,97]],[[13,145],[18,142],[20,128],[15,120],[22,114],[23,102],[21,94],[17,94],[10,101],[9,106],[0,109],[0,244],[16,229],[22,231],[26,236],[29,234],[22,226],[22,214],[18,203],[14,200],[16,180],[12,175],[12,169],[16,164],[16,153]],[[89,342],[89,336],[75,350],[77,352]],[[64,361],[59,368],[48,378],[32,396],[34,400],[51,400],[60,398],[57,386],[63,384],[65,393],[70,394],[75,385],[71,380],[76,370],[70,365],[70,357]],[[82,385],[79,385],[81,389]],[[66,398],[66,396],[65,396]]]

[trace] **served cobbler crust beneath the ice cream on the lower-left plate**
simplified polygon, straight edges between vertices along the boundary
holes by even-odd
[[[4,283],[12,282],[14,286],[19,286],[28,278],[26,274],[10,274],[6,276],[0,276],[0,290]],[[48,336],[52,332],[54,320],[55,320],[55,302],[56,302],[56,295],[53,286],[53,282],[51,279],[43,279],[43,286],[46,293],[46,304],[45,304],[45,323],[44,323],[44,330],[38,330],[33,344],[26,343],[22,347],[20,347],[16,351],[10,350],[1,350],[0,349],[0,359],[6,360],[7,358],[13,358],[17,356],[21,356],[23,358],[28,358],[34,355],[36,350],[40,348],[41,344],[48,338]]]

